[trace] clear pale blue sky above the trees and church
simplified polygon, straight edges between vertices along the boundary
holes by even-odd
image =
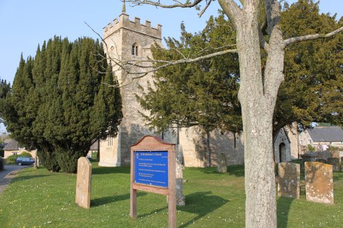
[[[294,0],[289,1],[292,2]],[[24,58],[34,56],[37,45],[55,35],[69,40],[81,36],[97,38],[84,22],[102,34],[102,28],[121,13],[121,5],[120,0],[0,0],[0,78],[12,84],[21,53]],[[149,20],[154,27],[159,23],[163,25],[163,36],[175,38],[180,35],[182,21],[187,31],[200,31],[219,8],[214,1],[199,18],[194,9],[156,9],[150,5],[132,8],[126,4],[126,12],[132,20],[138,16],[141,23]],[[322,0],[320,10],[331,14],[337,12],[340,18],[343,1]]]

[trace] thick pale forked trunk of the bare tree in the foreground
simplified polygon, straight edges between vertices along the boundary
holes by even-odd
[[[272,116],[283,77],[283,56],[274,56],[274,50],[267,51],[269,62],[262,75],[259,20],[257,12],[254,12],[257,9],[256,5],[246,5],[237,22],[241,75],[239,102],[245,140],[246,227],[254,228],[276,227],[277,223]],[[276,49],[277,53],[283,54],[283,49]]]

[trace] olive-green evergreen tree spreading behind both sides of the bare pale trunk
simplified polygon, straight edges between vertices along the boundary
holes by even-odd
[[[311,0],[286,5],[282,18],[285,38],[329,32],[341,23],[335,16],[319,14],[318,3]],[[313,121],[342,124],[342,38],[338,34],[287,47],[285,81],[274,112],[274,137],[295,121],[302,128],[310,127]],[[221,15],[211,17],[198,34],[187,33],[182,25],[180,41],[169,38],[167,49],[155,47],[152,51],[156,60],[196,58],[234,45],[234,41],[235,29]],[[169,66],[154,79],[154,85],[139,98],[142,107],[151,112],[145,116],[150,126],[160,130],[174,125],[199,126],[205,131],[242,130],[237,55]]]

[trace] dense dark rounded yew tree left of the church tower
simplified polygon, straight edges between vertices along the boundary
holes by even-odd
[[[38,47],[34,59],[21,58],[5,122],[12,137],[38,149],[49,170],[75,173],[95,140],[117,134],[121,97],[102,56],[91,38],[71,43],[55,37]]]

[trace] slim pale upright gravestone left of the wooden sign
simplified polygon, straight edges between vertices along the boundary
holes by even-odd
[[[92,164],[86,157],[78,160],[75,203],[83,208],[91,207]]]

